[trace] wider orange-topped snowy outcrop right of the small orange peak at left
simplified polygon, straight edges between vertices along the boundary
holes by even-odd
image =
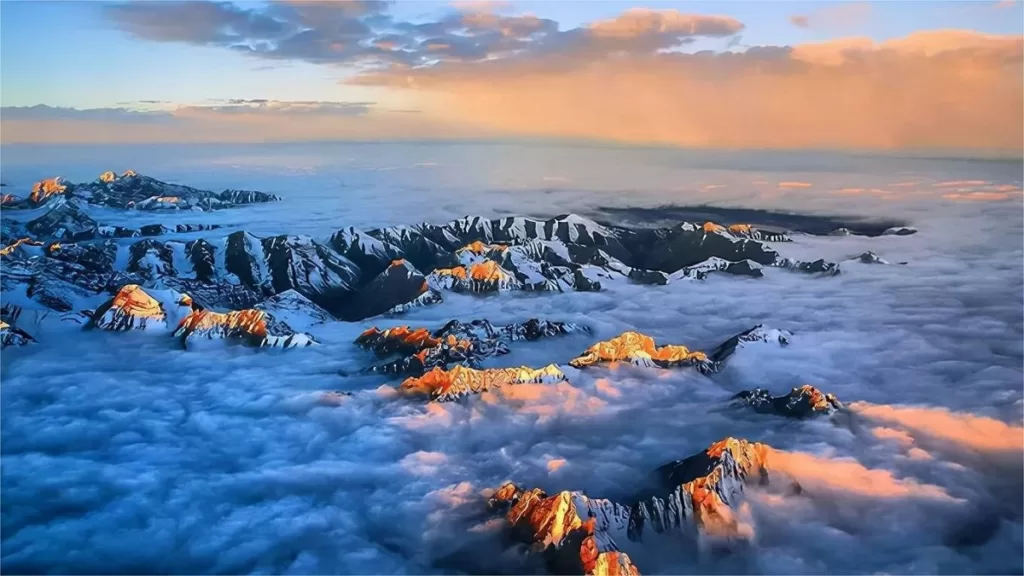
[[[193,311],[178,325],[174,335],[182,345],[198,339],[239,339],[253,346],[302,347],[316,344],[309,334],[295,332],[261,310],[249,308],[226,314],[208,310]]]

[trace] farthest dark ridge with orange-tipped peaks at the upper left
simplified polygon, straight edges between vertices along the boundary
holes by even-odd
[[[35,208],[61,197],[136,210],[216,210],[280,200],[262,192],[225,190],[215,193],[199,190],[127,170],[120,176],[115,172],[103,172],[91,182],[71,183],[60,177],[40,180],[33,187],[29,198],[5,203],[5,206]]]

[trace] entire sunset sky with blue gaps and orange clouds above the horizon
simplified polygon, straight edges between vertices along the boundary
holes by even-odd
[[[0,138],[1017,154],[1022,34],[1006,0],[5,0]]]

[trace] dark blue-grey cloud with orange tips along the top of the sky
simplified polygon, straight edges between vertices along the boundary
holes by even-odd
[[[119,3],[104,8],[118,28],[146,40],[220,46],[256,57],[372,69],[566,51],[580,57],[649,52],[697,37],[735,34],[727,16],[631,9],[571,30],[534,15],[502,15],[492,3],[460,5],[432,22],[395,19],[384,2]]]

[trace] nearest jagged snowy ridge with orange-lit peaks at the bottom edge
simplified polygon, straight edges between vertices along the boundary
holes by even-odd
[[[771,449],[727,438],[655,470],[657,486],[629,504],[563,491],[502,485],[488,499],[513,534],[544,554],[553,573],[637,574],[617,542],[650,532],[695,530],[717,539],[746,536],[736,504],[744,484],[766,482]],[[603,561],[602,561],[603,559]]]

